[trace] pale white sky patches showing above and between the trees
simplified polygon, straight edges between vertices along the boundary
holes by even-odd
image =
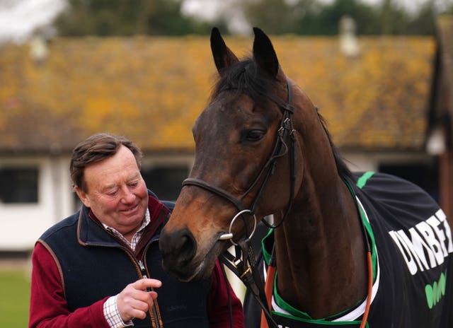
[[[183,12],[210,19],[234,10],[230,1],[241,0],[185,0]],[[294,1],[294,0],[287,0]],[[330,2],[332,0],[322,0]],[[365,0],[375,4],[382,0]],[[421,6],[427,0],[396,0],[408,8]],[[435,0],[439,4],[447,0]],[[448,0],[450,1],[450,0]],[[32,35],[35,28],[48,25],[66,4],[64,0],[0,0],[0,44],[3,42],[23,42]],[[248,27],[239,13],[232,15],[232,30],[246,33]]]

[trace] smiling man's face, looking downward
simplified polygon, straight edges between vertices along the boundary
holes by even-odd
[[[148,206],[148,192],[134,154],[121,146],[117,153],[84,171],[88,192],[76,187],[85,206],[96,218],[130,239],[139,228]]]

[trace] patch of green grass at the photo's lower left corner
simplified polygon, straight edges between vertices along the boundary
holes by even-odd
[[[28,327],[30,279],[21,269],[0,269],[1,327]]]

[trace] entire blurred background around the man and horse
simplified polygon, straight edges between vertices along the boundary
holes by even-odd
[[[263,29],[352,170],[411,180],[452,216],[452,15],[453,0],[0,0],[2,327],[27,326],[35,240],[80,206],[79,141],[130,137],[148,187],[178,197],[213,26],[239,57]]]

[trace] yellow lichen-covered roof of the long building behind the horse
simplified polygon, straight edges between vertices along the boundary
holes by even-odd
[[[271,36],[282,69],[328,121],[338,148],[420,151],[432,37],[360,37],[354,59],[337,37]],[[226,37],[239,56],[251,37]],[[96,132],[144,151],[192,153],[192,125],[215,66],[209,38],[57,38],[43,61],[28,45],[0,47],[0,152],[69,152]]]

